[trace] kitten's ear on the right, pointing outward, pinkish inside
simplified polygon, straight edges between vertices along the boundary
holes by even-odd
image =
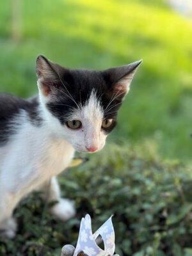
[[[137,68],[142,63],[142,60],[135,61],[129,65],[122,67],[109,68],[104,71],[104,79],[109,85],[109,93],[116,95],[120,99],[124,99],[129,92],[130,84]]]

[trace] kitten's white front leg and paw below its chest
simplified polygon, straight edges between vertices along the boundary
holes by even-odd
[[[60,186],[56,177],[52,177],[49,182],[41,186],[40,190],[43,192],[44,199],[47,202],[58,202],[51,207],[51,213],[62,221],[67,221],[76,214],[74,201],[61,198]]]

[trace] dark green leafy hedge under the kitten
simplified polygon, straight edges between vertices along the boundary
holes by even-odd
[[[106,154],[61,176],[62,195],[75,200],[76,218],[61,223],[33,194],[15,211],[19,232],[13,241],[0,241],[0,255],[60,256],[63,244],[76,245],[79,222],[89,212],[93,230],[114,214],[121,256],[190,256],[191,174],[189,166],[157,157],[152,145],[108,145]]]

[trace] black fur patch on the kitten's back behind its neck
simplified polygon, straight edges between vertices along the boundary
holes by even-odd
[[[42,118],[38,115],[38,104],[37,97],[24,100],[8,93],[0,94],[0,146],[4,145],[9,136],[16,132],[11,123],[14,117],[19,115],[20,111],[26,111],[31,124],[35,126],[41,125]]]

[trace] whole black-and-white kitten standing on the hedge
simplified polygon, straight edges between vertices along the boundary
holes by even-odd
[[[70,70],[38,56],[38,97],[0,94],[1,234],[15,236],[13,209],[34,190],[44,195],[49,189],[46,199],[58,201],[51,212],[61,220],[74,216],[74,204],[61,198],[56,175],[67,168],[75,150],[104,147],[140,63],[104,71]]]

